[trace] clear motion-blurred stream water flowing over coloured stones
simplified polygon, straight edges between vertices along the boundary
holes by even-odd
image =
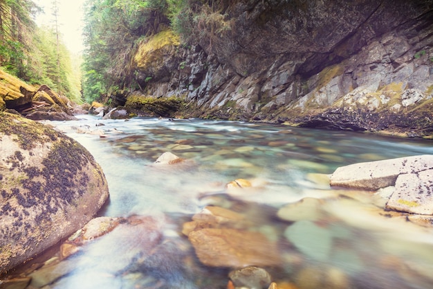
[[[226,288],[231,268],[201,265],[181,233],[209,205],[241,213],[247,229],[278,244],[282,261],[266,270],[279,288],[433,288],[433,227],[387,218],[374,193],[326,181],[347,164],[433,155],[431,141],[200,119],[51,123],[102,166],[110,200],[100,216],[152,216],[163,241],[145,258],[140,246],[151,236],[115,229],[34,272],[34,288]],[[155,166],[167,151],[186,161]],[[234,179],[252,186],[227,189]],[[321,200],[314,221],[277,217],[306,197]]]

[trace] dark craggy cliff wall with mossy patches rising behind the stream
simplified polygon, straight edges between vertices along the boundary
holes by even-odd
[[[221,17],[197,24],[194,44],[147,48],[155,65],[135,58],[134,97],[180,96],[183,116],[433,133],[433,1],[221,1],[212,11]]]

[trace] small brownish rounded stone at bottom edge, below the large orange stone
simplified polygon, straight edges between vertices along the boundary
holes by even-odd
[[[270,274],[263,268],[248,266],[228,274],[234,288],[266,289],[270,286]]]

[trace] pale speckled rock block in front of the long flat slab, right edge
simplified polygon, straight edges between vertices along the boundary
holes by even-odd
[[[433,215],[433,169],[399,175],[387,208]]]

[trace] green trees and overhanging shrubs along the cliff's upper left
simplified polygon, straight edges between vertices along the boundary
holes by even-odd
[[[207,42],[230,30],[224,10],[230,0],[86,0],[84,97],[89,102],[109,94],[113,87],[137,87],[133,68],[138,44],[167,28],[181,41]],[[142,88],[142,87],[140,87]]]

